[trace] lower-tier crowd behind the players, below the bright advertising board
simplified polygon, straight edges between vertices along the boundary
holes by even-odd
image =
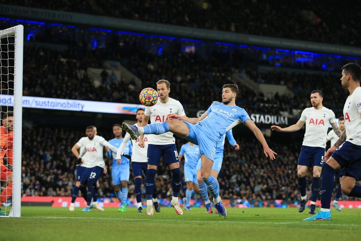
[[[98,132],[104,138],[110,139],[112,133],[109,129],[98,128]],[[71,196],[71,190],[75,185],[76,161],[71,147],[84,136],[83,133],[84,130],[74,127],[33,126],[23,130],[22,195]],[[247,138],[247,134],[235,134],[240,151],[236,152],[233,147],[226,144],[223,165],[219,173],[223,198],[257,201],[299,199],[296,170],[302,140],[293,139],[291,134],[283,134],[290,135],[292,141],[283,143],[275,139],[267,140],[270,147],[278,153],[273,161],[265,158],[262,146],[256,138]],[[285,139],[289,140],[289,138]],[[183,143],[183,139],[177,138],[178,150]],[[100,178],[100,198],[114,197],[110,169],[112,160],[105,158],[105,163],[108,166],[108,173]],[[130,173],[129,197],[134,197],[134,182],[132,172]],[[160,165],[157,174],[158,197],[171,197],[169,168]],[[312,173],[308,174],[308,190],[311,190]],[[183,191],[185,188],[186,185],[183,183]],[[311,193],[308,195],[310,196]]]

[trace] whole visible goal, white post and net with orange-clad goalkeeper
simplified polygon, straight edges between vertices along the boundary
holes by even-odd
[[[23,32],[0,30],[0,218],[21,210]]]

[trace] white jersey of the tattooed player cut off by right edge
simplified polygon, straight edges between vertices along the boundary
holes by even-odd
[[[346,141],[361,146],[361,87],[357,87],[352,95],[347,97],[343,107],[345,118]]]

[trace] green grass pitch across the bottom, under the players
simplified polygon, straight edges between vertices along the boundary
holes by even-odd
[[[22,207],[21,218],[0,218],[0,240],[358,240],[361,210],[332,209],[332,221],[302,221],[308,209],[227,208],[227,219],[193,208],[177,215],[162,207],[154,216],[127,208],[75,212],[68,208]]]

